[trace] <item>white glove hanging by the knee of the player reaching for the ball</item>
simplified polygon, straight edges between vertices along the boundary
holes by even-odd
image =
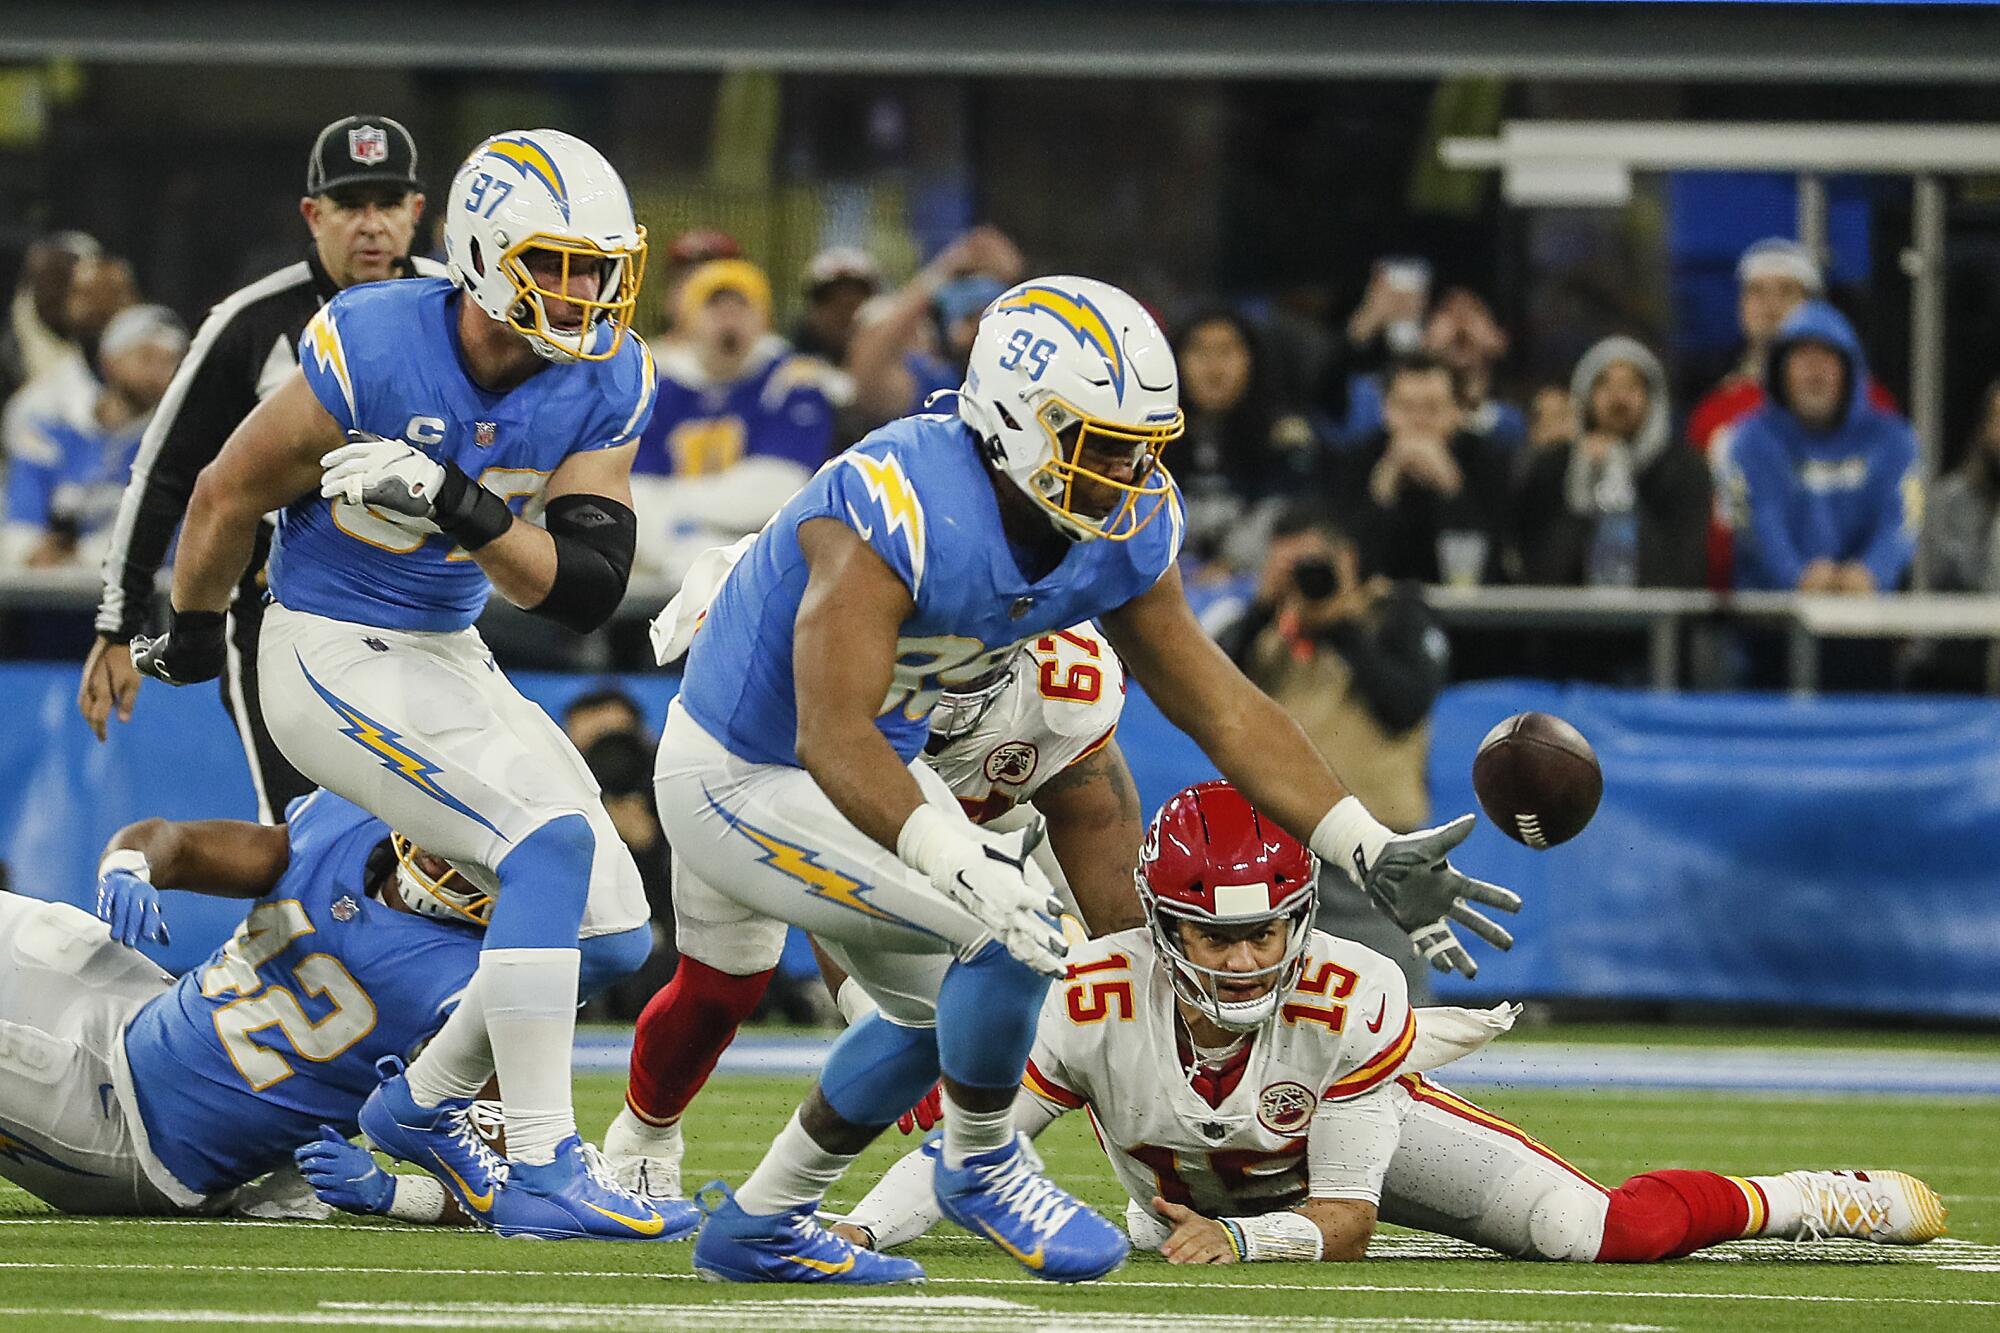
[[[1070,953],[1048,885],[1028,877],[1036,833],[1024,833],[1012,853],[970,837],[960,821],[920,805],[896,835],[896,855],[930,879],[938,893],[970,913],[992,937],[1038,973],[1056,977]]]

